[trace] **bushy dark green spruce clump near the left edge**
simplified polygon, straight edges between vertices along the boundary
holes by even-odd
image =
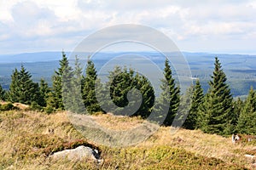
[[[32,82],[31,74],[21,65],[20,71],[13,71],[9,88],[9,101],[30,105],[32,101],[39,103],[40,94],[38,83]]]

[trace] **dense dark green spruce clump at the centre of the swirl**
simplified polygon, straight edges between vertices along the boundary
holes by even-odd
[[[117,66],[110,72],[108,79],[107,87],[110,89],[110,97],[114,105],[118,106],[114,110],[109,106],[110,112],[115,115],[142,116],[143,118],[150,115],[154,105],[154,89],[146,77],[138,73],[135,75],[132,69],[128,70],[125,67],[122,70]],[[142,103],[138,105],[137,100],[140,98],[140,94]],[[128,99],[128,95],[130,99]],[[132,111],[137,105],[137,111]],[[125,106],[128,106],[129,109],[123,110]]]

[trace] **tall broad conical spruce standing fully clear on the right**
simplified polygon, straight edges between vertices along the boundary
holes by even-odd
[[[206,133],[230,134],[234,132],[234,112],[230,88],[226,84],[226,75],[218,58],[215,58],[215,68],[210,88],[203,105],[200,107],[201,130]]]

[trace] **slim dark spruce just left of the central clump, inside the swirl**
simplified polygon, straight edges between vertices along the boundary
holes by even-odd
[[[87,61],[85,74],[85,77],[82,79],[82,99],[86,111],[90,114],[102,111],[101,106],[96,99],[96,90],[99,90],[95,89],[97,81],[96,68],[90,59]]]

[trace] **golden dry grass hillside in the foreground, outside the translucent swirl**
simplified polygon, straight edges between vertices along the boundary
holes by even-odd
[[[139,118],[94,116],[106,127],[134,126]],[[125,126],[124,126],[125,125]],[[49,133],[54,129],[54,133]],[[244,154],[256,154],[253,144],[232,144],[230,138],[170,127],[160,127],[143,143],[111,148],[87,141],[67,119],[66,112],[51,115],[35,111],[0,112],[0,169],[250,169]],[[90,160],[51,161],[55,151],[79,144],[97,148],[102,165]],[[254,151],[253,151],[254,150]]]

